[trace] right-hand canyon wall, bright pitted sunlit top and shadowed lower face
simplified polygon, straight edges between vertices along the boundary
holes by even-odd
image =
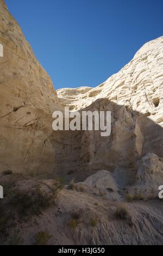
[[[65,142],[69,170],[77,174],[83,169],[83,179],[95,170],[110,170],[124,186],[135,182],[135,164],[144,155],[163,156],[162,56],[160,37],[143,46],[131,62],[97,88],[57,91],[60,102],[72,111],[111,111],[109,137],[102,138],[97,131],[78,132],[74,137],[71,132],[62,134],[59,142]]]

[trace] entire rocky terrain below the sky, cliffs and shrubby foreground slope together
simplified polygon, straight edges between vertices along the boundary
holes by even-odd
[[[97,88],[57,93],[3,0],[0,44],[0,243],[162,244],[163,37]],[[64,106],[111,111],[111,136],[52,131]]]

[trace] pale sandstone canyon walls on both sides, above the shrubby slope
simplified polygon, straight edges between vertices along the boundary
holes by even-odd
[[[163,37],[148,42],[97,88],[56,93],[4,1],[0,3],[0,172],[82,181],[106,169],[121,186],[133,184],[137,161],[148,153],[163,157]],[[64,106],[111,111],[111,136],[54,132],[52,113]]]

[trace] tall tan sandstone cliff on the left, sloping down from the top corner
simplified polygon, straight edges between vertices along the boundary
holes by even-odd
[[[57,94],[2,0],[0,43],[0,172],[51,172],[55,153],[48,138]]]

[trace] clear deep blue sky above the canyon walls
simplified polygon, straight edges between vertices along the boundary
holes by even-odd
[[[162,0],[5,0],[55,89],[91,86],[163,35]]]

